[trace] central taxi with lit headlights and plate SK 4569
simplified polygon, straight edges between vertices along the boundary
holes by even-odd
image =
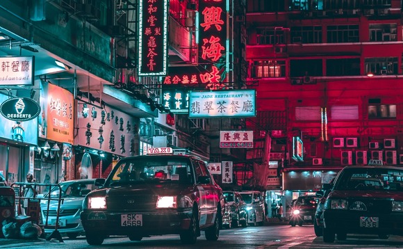
[[[150,152],[152,154],[150,154]],[[149,154],[121,159],[102,186],[83,202],[81,221],[88,244],[101,245],[109,235],[179,234],[196,243],[201,230],[208,241],[220,235],[224,214],[222,189],[197,156],[153,148]]]

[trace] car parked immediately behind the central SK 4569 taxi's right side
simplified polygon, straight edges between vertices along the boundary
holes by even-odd
[[[222,218],[222,225],[224,227],[243,227],[247,226],[247,204],[242,200],[240,193],[236,191],[223,192],[226,204],[226,211],[228,215]]]

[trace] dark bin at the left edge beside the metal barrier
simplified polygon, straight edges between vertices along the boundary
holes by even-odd
[[[0,231],[3,220],[13,217],[15,217],[15,192],[9,186],[0,186]],[[0,236],[3,236],[2,232]]]

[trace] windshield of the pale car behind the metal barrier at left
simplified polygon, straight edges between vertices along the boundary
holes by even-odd
[[[62,189],[62,198],[85,197],[85,195],[97,188],[94,182],[62,182],[59,185]],[[51,198],[59,198],[60,188],[57,186],[51,188]],[[47,195],[44,195],[44,198],[47,198]]]

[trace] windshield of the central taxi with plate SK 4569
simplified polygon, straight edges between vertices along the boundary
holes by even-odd
[[[179,156],[138,156],[117,163],[106,186],[143,182],[177,182],[191,184],[190,160]]]

